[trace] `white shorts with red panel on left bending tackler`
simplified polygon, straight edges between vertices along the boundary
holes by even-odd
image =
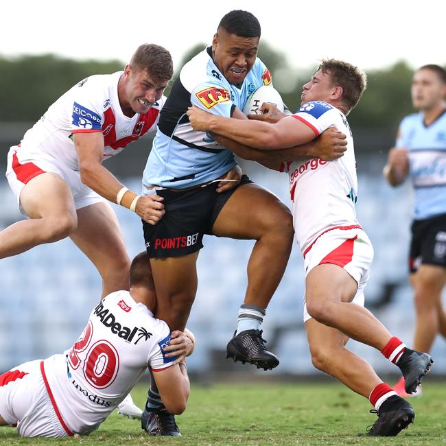
[[[73,194],[76,209],[106,201],[105,198],[82,183],[79,172],[58,159],[45,152],[23,150],[19,145],[13,145],[8,152],[6,178],[8,178],[10,188],[16,196],[17,204],[19,204],[23,215],[26,215],[20,204],[20,193],[23,187],[32,178],[45,174],[45,172],[53,172],[65,180]]]

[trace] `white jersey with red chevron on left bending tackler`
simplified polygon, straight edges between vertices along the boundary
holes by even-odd
[[[93,75],[73,86],[52,104],[45,115],[25,133],[19,152],[44,152],[79,170],[78,156],[71,135],[78,132],[104,134],[104,159],[123,148],[145,132],[154,129],[162,97],[144,115],[127,117],[122,113],[118,98],[118,81],[122,71],[108,75]]]

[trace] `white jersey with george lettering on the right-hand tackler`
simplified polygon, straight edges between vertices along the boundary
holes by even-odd
[[[314,158],[282,165],[281,170],[290,174],[294,231],[305,257],[322,233],[360,227],[355,211],[356,161],[349,123],[338,108],[322,101],[307,102],[293,117],[312,128],[316,137],[329,127],[347,135],[347,151],[339,159]]]

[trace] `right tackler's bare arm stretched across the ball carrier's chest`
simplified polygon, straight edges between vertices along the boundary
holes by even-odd
[[[291,148],[308,143],[317,136],[312,128],[292,116],[270,124],[211,115],[196,107],[189,108],[187,115],[194,130],[217,133],[261,150]]]

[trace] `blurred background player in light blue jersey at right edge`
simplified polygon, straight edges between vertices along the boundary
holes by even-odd
[[[384,174],[392,186],[410,177],[414,188],[410,283],[414,290],[414,349],[430,351],[437,333],[446,337],[441,295],[446,283],[446,71],[435,64],[414,73],[412,104]],[[406,395],[404,379],[394,386]],[[418,396],[421,388],[414,394]]]

